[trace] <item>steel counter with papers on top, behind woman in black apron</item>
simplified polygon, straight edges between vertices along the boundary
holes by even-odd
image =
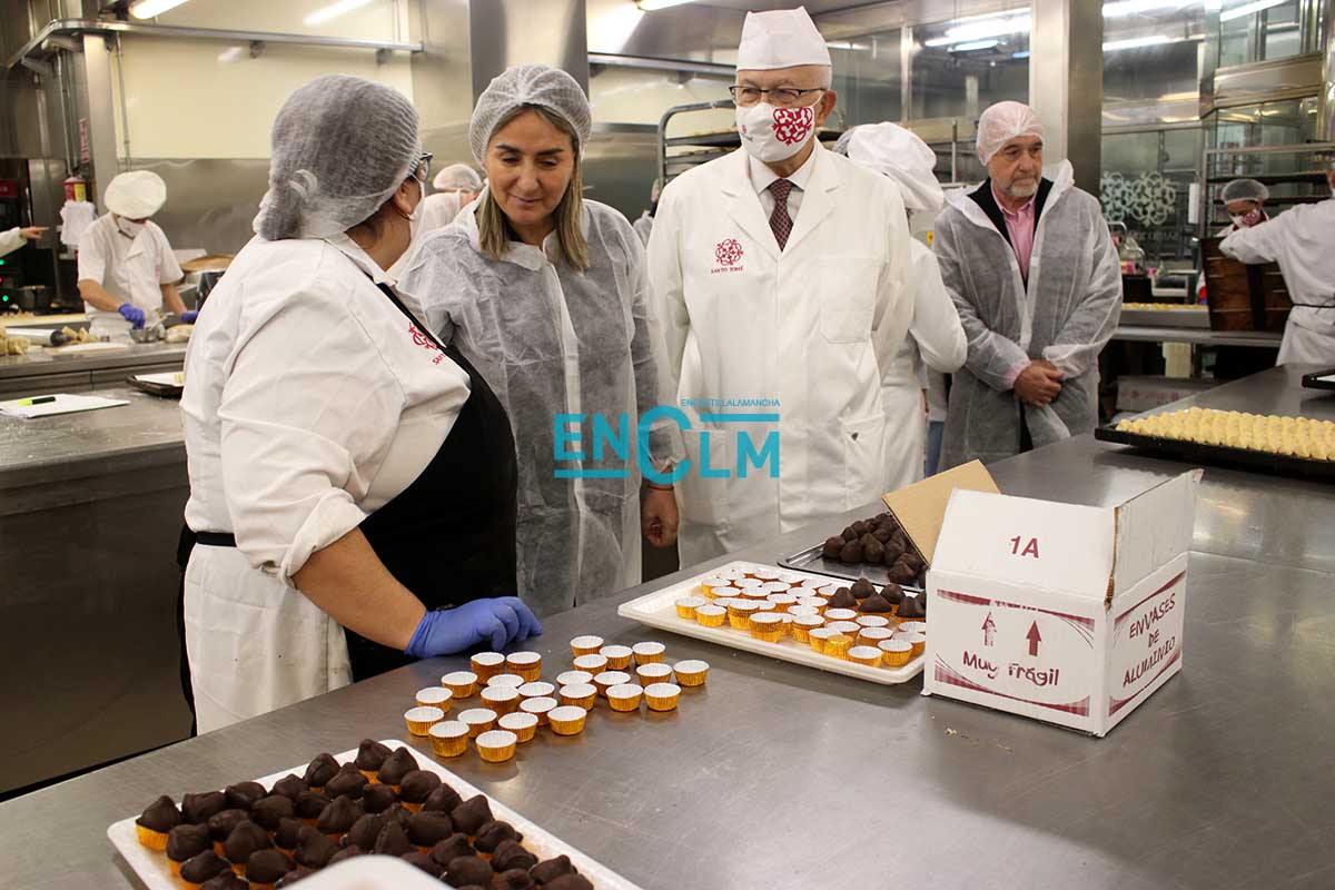
[[[179,403],[104,395],[129,404],[0,416],[0,793],[190,730],[176,679]]]

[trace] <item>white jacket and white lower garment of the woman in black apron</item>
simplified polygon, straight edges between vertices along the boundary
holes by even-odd
[[[372,280],[386,276],[343,235],[256,238],[195,326],[186,522],[236,535],[195,547],[186,570],[200,731],[351,682],[343,628],[292,575],[407,488],[469,398]]]

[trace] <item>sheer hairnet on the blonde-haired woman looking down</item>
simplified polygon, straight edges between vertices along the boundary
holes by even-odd
[[[558,68],[547,65],[514,65],[497,75],[478,96],[469,121],[469,145],[479,164],[486,161],[487,143],[501,121],[517,108],[539,105],[561,116],[575,131],[579,155],[583,156],[593,132],[593,111],[579,83]]]

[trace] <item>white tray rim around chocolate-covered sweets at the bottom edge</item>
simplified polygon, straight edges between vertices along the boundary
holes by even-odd
[[[390,746],[391,749],[406,747],[413,751],[414,758],[417,758],[418,766],[423,770],[430,770],[441,777],[445,782],[454,786],[454,790],[463,795],[465,799],[474,795],[482,794],[481,790],[469,785],[461,779],[454,773],[435,762],[435,759],[429,753],[419,751],[414,749],[407,742],[400,739],[380,739],[382,743]],[[314,757],[314,755],[312,755]],[[356,757],[356,749],[351,751],[343,751],[342,754],[335,754],[334,759],[339,763],[347,763]],[[280,770],[272,775],[266,775],[260,779],[255,779],[266,789],[272,787],[274,782],[279,781],[288,773],[295,773],[298,775],[306,771],[306,763],[294,766],[287,770]],[[180,794],[175,795],[178,803],[180,802]],[[498,819],[505,819],[523,835],[523,846],[527,847],[530,853],[538,857],[538,861],[550,859],[558,855],[570,857],[570,862],[579,870],[579,874],[589,878],[597,890],[639,890],[635,885],[630,883],[619,874],[599,865],[598,862],[590,859],[583,853],[579,853],[569,843],[559,841],[550,831],[541,829],[529,819],[523,818],[506,805],[501,803],[493,797],[487,797],[487,802],[491,805],[491,813]],[[139,838],[135,834],[135,819],[138,815],[131,815],[120,822],[113,823],[107,829],[107,837],[111,842],[120,850],[120,855],[125,857],[125,862],[129,867],[135,870],[135,874],[144,882],[148,890],[180,890],[180,881],[172,877],[171,866],[167,862],[166,853],[155,853],[139,843]],[[352,859],[356,862],[356,859]],[[425,873],[423,873],[425,874]],[[447,885],[442,885],[447,886]]]

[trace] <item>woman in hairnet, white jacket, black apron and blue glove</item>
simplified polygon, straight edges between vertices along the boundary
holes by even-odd
[[[541,632],[514,596],[505,410],[386,272],[421,223],[417,111],[383,84],[318,77],[279,111],[271,159],[258,238],[186,356],[183,624],[202,731]]]

